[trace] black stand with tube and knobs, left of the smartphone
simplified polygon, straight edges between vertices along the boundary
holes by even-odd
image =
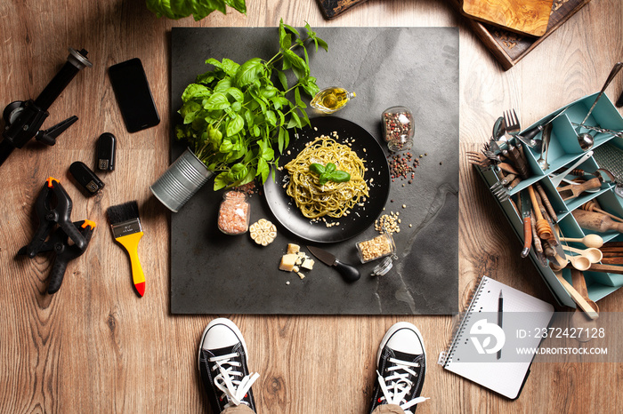
[[[82,68],[91,68],[93,63],[86,59],[85,49],[80,52],[69,49],[69,57],[61,70],[53,77],[36,100],[15,100],[4,108],[3,140],[0,142],[0,165],[11,155],[13,149],[21,148],[35,138],[45,145],[53,146],[56,138],[77,121],[77,116],[70,116],[52,128],[41,131],[48,108],[53,104],[69,82]]]

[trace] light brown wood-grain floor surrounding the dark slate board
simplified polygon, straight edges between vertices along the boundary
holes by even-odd
[[[623,58],[623,3],[594,0],[540,44],[518,66],[504,71],[473,36],[450,2],[369,0],[336,20],[323,20],[315,0],[247,0],[247,15],[214,13],[206,20],[158,20],[143,0],[5,0],[0,2],[0,104],[36,97],[67,56],[85,48],[86,68],[62,93],[45,125],[77,115],[80,121],[53,148],[28,145],[0,168],[0,411],[1,412],[206,412],[197,346],[216,315],[173,316],[169,311],[169,214],[148,187],[168,165],[170,124],[119,140],[117,171],[107,187],[85,199],[67,185],[73,218],[101,225],[85,255],[69,265],[61,291],[44,293],[45,258],[15,259],[36,219],[32,205],[44,179],[67,181],[69,163],[93,158],[103,131],[124,127],[106,68],[140,57],[158,111],[169,113],[169,32],[174,26],[458,27],[460,30],[460,142],[462,154],[478,150],[494,120],[514,107],[524,123],[587,93],[599,91],[611,65]],[[232,44],[232,47],[235,47]],[[417,52],[417,51],[414,51]],[[206,57],[207,58],[207,57]],[[616,100],[622,77],[607,93]],[[461,156],[459,298],[486,274],[553,301],[471,165]],[[137,199],[146,236],[140,245],[149,294],[129,289],[129,264],[105,226],[110,205]],[[510,240],[510,241],[509,241]],[[623,293],[599,302],[623,311]],[[533,366],[518,401],[508,402],[442,370],[436,359],[452,330],[450,316],[231,317],[247,339],[250,368],[262,413],[363,413],[375,378],[376,349],[392,323],[422,331],[428,370],[426,412],[620,411],[620,363],[544,363]],[[616,333],[615,333],[616,334]]]

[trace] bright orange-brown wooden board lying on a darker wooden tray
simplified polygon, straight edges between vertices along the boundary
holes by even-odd
[[[463,13],[501,28],[543,36],[553,3],[554,0],[463,0]]]

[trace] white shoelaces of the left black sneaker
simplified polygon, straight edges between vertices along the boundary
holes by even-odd
[[[243,377],[243,373],[239,370],[242,364],[240,362],[231,361],[231,358],[238,357],[239,354],[226,354],[220,356],[214,356],[209,358],[209,362],[215,362],[212,370],[220,370],[220,373],[214,377],[214,384],[223,391],[223,395],[227,397],[227,404],[225,407],[231,407],[232,405],[240,405],[243,402],[248,390],[251,388],[255,379],[260,377],[257,372],[250,373]],[[229,365],[229,367],[225,367]],[[239,379],[238,379],[239,378]]]

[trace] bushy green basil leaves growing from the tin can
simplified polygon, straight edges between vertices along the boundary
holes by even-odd
[[[177,4],[187,0],[170,1]],[[198,1],[220,10],[213,2],[222,0]],[[226,1],[244,4],[243,0]],[[297,29],[281,20],[279,52],[271,60],[253,58],[239,65],[227,58],[207,59],[206,64],[213,70],[198,75],[195,83],[182,93],[178,112],[183,123],[176,125],[175,136],[188,140],[195,155],[216,173],[215,190],[246,184],[255,178],[263,183],[271,171],[274,177],[279,154],[289,145],[289,130],[309,124],[302,93],[313,95],[320,88],[316,78],[310,76],[305,45],[313,42],[318,49],[323,43],[309,24],[305,28],[307,36],[303,38]],[[304,59],[295,52],[300,48]],[[276,68],[278,64],[281,68]],[[292,85],[288,84],[287,70],[295,75]],[[273,75],[277,84],[272,83]],[[287,95],[289,92],[292,94]],[[337,172],[329,171],[336,179],[343,179]]]

